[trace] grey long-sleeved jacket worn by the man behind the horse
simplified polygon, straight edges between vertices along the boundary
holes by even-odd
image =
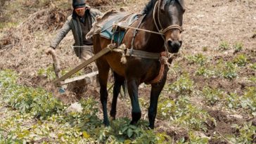
[[[91,13],[91,23],[95,22],[96,15],[102,15],[101,11],[98,11],[94,8],[89,8],[87,9],[87,11]],[[58,44],[60,44],[60,41],[68,34],[68,32],[70,32],[70,30],[72,30],[72,34],[75,39],[74,46],[82,46],[83,45],[82,30],[79,24],[79,20],[74,16],[72,17],[72,15],[68,17],[68,20],[66,20],[65,24],[56,35],[55,39],[51,41],[50,46],[55,49],[58,46]]]

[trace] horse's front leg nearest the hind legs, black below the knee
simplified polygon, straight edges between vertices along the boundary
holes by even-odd
[[[139,119],[141,119],[141,108],[139,107],[138,87],[139,87],[139,82],[137,79],[127,80],[128,93],[132,102],[131,124],[136,124],[136,122],[138,122]]]

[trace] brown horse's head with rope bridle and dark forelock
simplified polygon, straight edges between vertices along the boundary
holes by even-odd
[[[164,34],[165,46],[170,53],[177,53],[181,47],[182,20],[185,12],[184,0],[158,0],[155,22]]]

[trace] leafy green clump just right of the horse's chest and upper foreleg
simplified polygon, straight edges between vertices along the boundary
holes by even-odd
[[[189,78],[188,74],[182,74],[177,81],[169,84],[168,89],[177,94],[191,94],[193,87],[193,80]]]

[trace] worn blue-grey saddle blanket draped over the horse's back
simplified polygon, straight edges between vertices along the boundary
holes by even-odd
[[[126,26],[132,25],[132,23],[135,20],[138,20],[139,15],[138,14],[132,14],[132,15],[124,15],[123,13],[115,15],[114,18],[108,20],[105,22],[101,29],[101,37],[105,37],[106,39],[113,39],[113,41],[117,42],[118,44],[121,44],[122,39],[124,38],[125,31],[122,29],[113,30],[113,22],[117,23],[121,20],[125,20]]]

